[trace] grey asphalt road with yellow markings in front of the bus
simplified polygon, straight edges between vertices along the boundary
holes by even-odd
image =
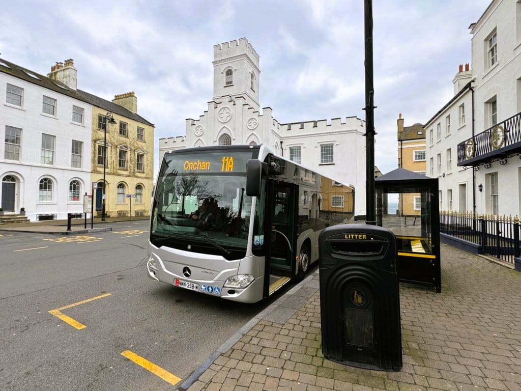
[[[0,389],[173,390],[273,300],[240,304],[154,282],[147,221],[113,229],[0,232]]]

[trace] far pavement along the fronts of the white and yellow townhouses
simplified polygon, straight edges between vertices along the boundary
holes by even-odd
[[[49,220],[42,222],[24,222],[24,223],[5,223],[0,224],[0,231],[17,231],[28,232],[33,234],[51,234],[51,235],[77,235],[89,234],[95,232],[111,231],[111,223],[116,222],[133,222],[148,220],[150,217],[106,217],[105,221],[101,218],[94,218],[92,228],[91,219],[87,219],[87,226],[83,218],[71,219],[71,230],[67,231],[67,220]]]

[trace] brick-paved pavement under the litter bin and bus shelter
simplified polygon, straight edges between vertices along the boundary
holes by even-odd
[[[316,272],[246,324],[179,389],[521,390],[521,273],[448,245],[441,256],[441,294],[400,285],[400,372],[323,358]]]

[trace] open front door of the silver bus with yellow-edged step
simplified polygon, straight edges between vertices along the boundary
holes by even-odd
[[[296,205],[298,187],[269,180],[268,184],[269,246],[266,254],[265,289],[271,295],[294,275],[296,246]]]

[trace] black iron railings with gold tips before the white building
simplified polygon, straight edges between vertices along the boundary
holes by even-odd
[[[508,263],[521,254],[517,217],[440,212],[440,233],[475,243],[480,253]]]

